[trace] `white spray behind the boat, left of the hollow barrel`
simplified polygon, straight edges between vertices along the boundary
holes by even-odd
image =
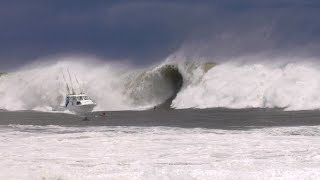
[[[70,86],[79,86],[98,104],[96,110],[130,109],[130,99],[122,94],[121,75],[126,67],[93,59],[61,58],[53,63],[29,65],[0,79],[0,109],[51,111],[63,104]],[[64,73],[64,78],[63,78]],[[80,81],[76,83],[74,76]],[[68,81],[68,82],[66,82]]]

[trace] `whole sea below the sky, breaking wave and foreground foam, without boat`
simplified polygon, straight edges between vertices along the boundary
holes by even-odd
[[[0,179],[320,179],[320,63],[242,58],[2,74]],[[55,111],[70,93],[94,112]]]

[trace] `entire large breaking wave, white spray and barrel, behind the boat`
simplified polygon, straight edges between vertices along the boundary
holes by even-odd
[[[138,68],[79,58],[29,65],[0,76],[0,109],[51,111],[67,93],[68,69],[95,110],[161,108],[320,108],[316,61],[165,61]],[[81,87],[80,87],[81,86]]]

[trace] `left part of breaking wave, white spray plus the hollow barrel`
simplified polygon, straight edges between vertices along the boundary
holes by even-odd
[[[84,58],[29,65],[0,78],[0,109],[53,111],[71,92],[85,92],[99,110],[170,108],[199,65],[160,64],[137,68]],[[190,76],[190,77],[189,77]]]

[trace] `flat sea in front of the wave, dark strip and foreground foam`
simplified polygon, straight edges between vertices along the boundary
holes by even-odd
[[[320,178],[317,110],[3,111],[0,142],[0,179]]]

